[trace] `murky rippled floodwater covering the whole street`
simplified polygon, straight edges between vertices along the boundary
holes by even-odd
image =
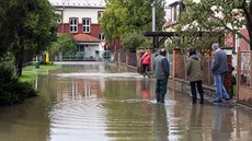
[[[62,64],[35,82],[37,97],[0,107],[0,141],[251,141],[252,110],[192,105],[154,80],[115,64]]]

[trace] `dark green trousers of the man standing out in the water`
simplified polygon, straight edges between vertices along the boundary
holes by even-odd
[[[168,87],[168,78],[163,80],[157,80],[157,83],[156,83],[157,102],[164,103],[167,87]]]

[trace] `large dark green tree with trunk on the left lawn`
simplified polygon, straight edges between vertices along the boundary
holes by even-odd
[[[46,49],[56,37],[57,22],[47,0],[9,0],[1,2],[1,54],[11,52],[15,58],[16,74],[22,74],[26,57]],[[5,44],[5,45],[4,45]]]

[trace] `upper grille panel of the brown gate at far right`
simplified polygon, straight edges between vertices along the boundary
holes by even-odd
[[[241,52],[240,85],[250,86],[250,52]]]

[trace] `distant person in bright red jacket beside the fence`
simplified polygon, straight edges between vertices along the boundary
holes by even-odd
[[[145,55],[141,57],[141,63],[142,63],[142,73],[144,77],[146,78],[146,74],[148,75],[148,78],[150,78],[148,71],[150,71],[150,55],[148,51],[145,52]]]

